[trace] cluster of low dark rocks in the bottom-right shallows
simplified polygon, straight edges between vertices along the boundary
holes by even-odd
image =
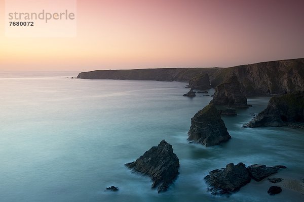
[[[283,168],[283,166],[282,166]],[[286,167],[285,167],[286,168]],[[213,195],[230,195],[238,191],[242,186],[248,184],[251,179],[261,181],[275,174],[279,167],[268,167],[265,165],[251,165],[246,168],[245,164],[227,164],[226,168],[213,170],[204,179],[209,185],[208,190]],[[276,190],[271,190],[273,194]]]

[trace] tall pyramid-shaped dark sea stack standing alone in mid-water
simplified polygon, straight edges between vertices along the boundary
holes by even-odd
[[[214,105],[207,105],[191,119],[188,140],[205,146],[217,145],[231,136]]]

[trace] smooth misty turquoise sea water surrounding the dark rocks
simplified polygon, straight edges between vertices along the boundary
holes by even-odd
[[[24,76],[25,75],[25,76]],[[228,163],[282,164],[275,176],[303,178],[304,130],[243,129],[268,97],[223,117],[232,139],[214,147],[189,144],[190,120],[212,97],[183,97],[186,83],[66,79],[73,72],[0,75],[0,201],[301,201],[295,191],[267,193],[267,181],[231,197],[212,196],[203,178]],[[213,91],[210,90],[209,94]],[[165,139],[180,160],[166,193],[124,164]],[[117,186],[118,192],[105,191]]]

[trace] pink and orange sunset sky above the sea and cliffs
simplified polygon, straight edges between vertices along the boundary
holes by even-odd
[[[0,70],[231,67],[304,58],[304,1],[78,0],[73,37],[7,37],[6,1]]]

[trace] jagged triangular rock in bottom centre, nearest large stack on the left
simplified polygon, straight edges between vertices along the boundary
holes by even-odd
[[[179,160],[173,153],[171,144],[165,140],[158,146],[151,147],[135,162],[127,163],[125,166],[148,175],[153,181],[152,188],[158,187],[158,192],[166,191],[179,174]]]

